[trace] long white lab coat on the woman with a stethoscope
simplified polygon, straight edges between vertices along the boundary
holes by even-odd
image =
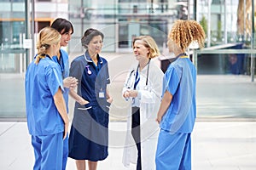
[[[148,90],[144,89],[148,70]],[[127,74],[123,93],[127,88],[133,88],[137,72],[137,64],[132,65],[131,71]],[[160,108],[160,95],[162,93],[162,81],[164,73],[158,65],[155,65],[155,59],[151,59],[148,65],[140,72],[140,82],[138,83],[141,99],[140,106],[140,127],[141,127],[141,159],[143,170],[154,170],[154,157],[156,151],[157,138],[159,133],[158,123],[155,122],[157,111]],[[137,146],[131,135],[131,99],[129,111],[127,112],[127,133],[125,139],[125,148],[123,153],[123,164],[129,167],[130,163],[137,163]]]

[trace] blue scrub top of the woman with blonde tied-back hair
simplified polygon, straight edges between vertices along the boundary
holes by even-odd
[[[26,117],[29,133],[48,135],[61,133],[64,123],[57,111],[53,96],[62,87],[61,69],[49,57],[32,62],[25,78]]]

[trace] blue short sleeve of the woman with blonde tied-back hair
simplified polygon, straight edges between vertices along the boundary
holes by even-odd
[[[49,68],[46,74],[46,82],[49,87],[50,93],[54,96],[58,89],[63,91],[61,71],[55,67]]]

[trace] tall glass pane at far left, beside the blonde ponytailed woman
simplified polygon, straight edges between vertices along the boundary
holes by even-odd
[[[0,3],[0,117],[25,117],[23,73],[26,70],[25,0]]]

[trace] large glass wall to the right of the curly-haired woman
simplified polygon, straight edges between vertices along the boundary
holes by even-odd
[[[207,33],[205,48],[194,50],[198,116],[255,120],[255,4],[249,0],[189,2],[190,12],[196,8],[190,17]]]

